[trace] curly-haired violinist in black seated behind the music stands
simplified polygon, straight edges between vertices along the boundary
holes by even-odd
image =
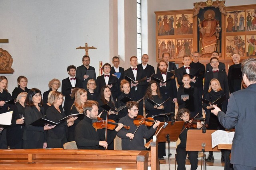
[[[186,167],[186,156],[188,154],[189,156],[189,161],[191,165],[191,170],[196,170],[197,169],[197,164],[198,164],[198,151],[186,151],[186,143],[187,143],[187,133],[188,129],[194,129],[192,127],[186,129],[186,122],[190,121],[190,111],[188,109],[182,108],[178,111],[176,115],[176,120],[178,121],[184,121],[184,126],[182,128],[182,132],[180,133],[180,144],[177,146],[176,152],[176,161],[178,164],[178,170],[185,170]],[[200,129],[202,128],[202,123],[197,122],[196,128]]]

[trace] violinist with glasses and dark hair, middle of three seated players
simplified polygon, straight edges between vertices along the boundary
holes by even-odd
[[[137,102],[127,102],[126,108],[128,115],[122,117],[119,123],[123,123],[126,126],[130,126],[129,130],[122,128],[118,131],[117,136],[122,139],[122,150],[146,150],[144,147],[144,138],[150,138],[156,131],[160,121],[154,121],[154,125],[148,129],[144,124],[137,126],[134,125],[134,117],[138,115],[139,104]],[[136,133],[134,134],[134,132]]]

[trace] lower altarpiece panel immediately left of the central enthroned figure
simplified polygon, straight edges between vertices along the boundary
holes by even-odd
[[[184,55],[193,53],[193,38],[182,38],[176,40],[176,59],[183,59]]]

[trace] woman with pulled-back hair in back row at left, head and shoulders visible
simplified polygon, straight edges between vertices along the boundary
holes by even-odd
[[[17,78],[18,87],[12,91],[12,98],[16,99],[18,94],[21,92],[28,92],[30,89],[27,88],[28,79],[25,76],[19,76]]]

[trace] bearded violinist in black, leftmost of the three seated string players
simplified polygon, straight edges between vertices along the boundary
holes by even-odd
[[[98,102],[88,100],[84,103],[84,119],[77,125],[75,130],[75,141],[78,149],[107,149],[108,143],[111,143],[116,137],[116,133],[124,126],[118,123],[118,126],[112,133],[107,133],[105,138],[105,129],[94,129],[92,122],[97,120]]]

